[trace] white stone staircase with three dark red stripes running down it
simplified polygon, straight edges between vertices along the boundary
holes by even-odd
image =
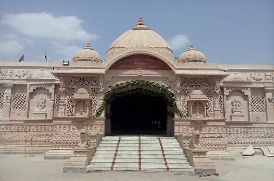
[[[86,171],[188,171],[194,172],[174,137],[105,136]]]

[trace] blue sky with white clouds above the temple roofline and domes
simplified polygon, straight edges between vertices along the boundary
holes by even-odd
[[[190,42],[209,62],[274,63],[274,1],[0,2],[0,60],[71,60],[90,42],[106,50],[140,16],[180,56]]]

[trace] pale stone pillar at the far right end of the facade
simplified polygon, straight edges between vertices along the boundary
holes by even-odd
[[[273,88],[264,88],[265,91],[265,106],[266,106],[266,120],[274,122],[274,110],[273,110]]]

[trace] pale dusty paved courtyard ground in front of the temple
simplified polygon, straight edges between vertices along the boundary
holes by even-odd
[[[273,181],[274,157],[237,156],[236,161],[215,161],[219,177],[182,175],[178,172],[63,173],[65,160],[44,160],[42,155],[0,155],[1,181]]]

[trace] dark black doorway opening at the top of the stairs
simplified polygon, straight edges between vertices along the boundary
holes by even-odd
[[[113,135],[165,135],[166,121],[167,104],[163,98],[135,93],[111,102]]]

